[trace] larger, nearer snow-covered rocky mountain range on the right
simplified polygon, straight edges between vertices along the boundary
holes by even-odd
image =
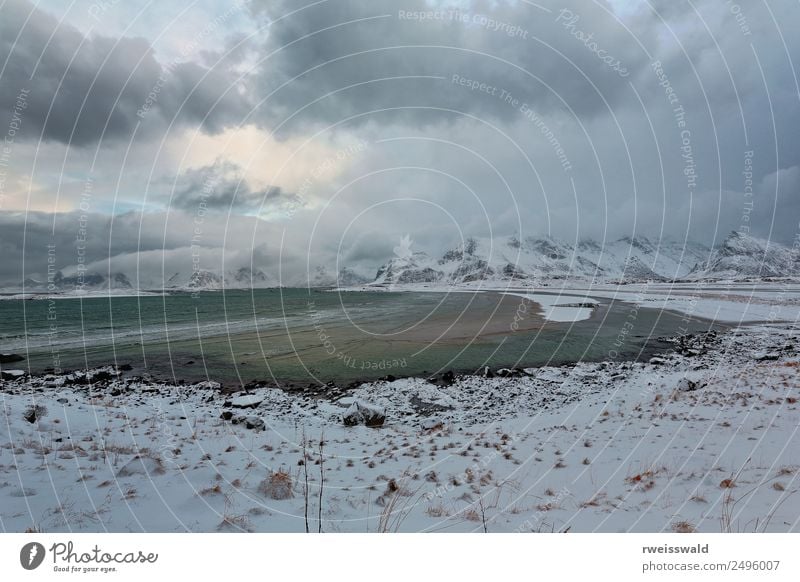
[[[397,254],[397,251],[396,251]],[[595,282],[721,280],[800,276],[797,250],[741,233],[717,248],[624,237],[577,244],[551,237],[468,239],[440,258],[402,252],[378,269],[374,285],[468,283],[476,280]]]

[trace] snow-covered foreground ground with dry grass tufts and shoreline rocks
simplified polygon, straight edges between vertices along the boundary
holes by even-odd
[[[797,531],[799,339],[753,326],[647,364],[327,397],[11,374],[0,529]],[[344,426],[354,401],[384,425]]]

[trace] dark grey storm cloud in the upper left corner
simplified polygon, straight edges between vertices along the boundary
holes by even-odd
[[[146,128],[202,122],[216,131],[247,111],[241,95],[227,91],[235,77],[221,67],[162,65],[144,39],[85,37],[26,0],[5,2],[1,10],[0,118],[28,90],[29,140],[42,135],[86,145],[129,138],[143,120]]]

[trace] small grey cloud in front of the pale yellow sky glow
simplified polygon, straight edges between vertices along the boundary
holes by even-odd
[[[224,161],[186,170],[175,179],[173,192],[170,206],[189,212],[254,213],[303,205],[296,194],[277,186],[253,189],[238,165]]]

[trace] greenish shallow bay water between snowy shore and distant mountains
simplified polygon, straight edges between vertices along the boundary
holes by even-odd
[[[6,300],[0,352],[25,355],[14,367],[32,372],[117,363],[164,379],[316,384],[649,357],[667,348],[658,336],[709,328],[647,309],[632,319],[630,305],[604,300],[577,323],[543,322],[527,305],[514,331],[520,301],[497,293],[308,289]]]

